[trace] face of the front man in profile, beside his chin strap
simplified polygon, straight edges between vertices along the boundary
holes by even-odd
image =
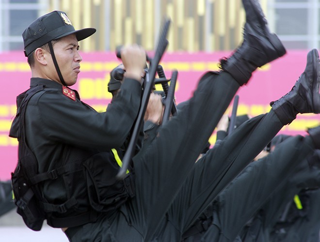
[[[82,61],[82,58],[78,49],[79,45],[75,34],[67,35],[53,45],[54,54],[67,86],[75,84],[80,73],[80,61]],[[56,72],[53,63],[51,68],[53,73]],[[58,74],[56,74],[55,80],[60,82]]]

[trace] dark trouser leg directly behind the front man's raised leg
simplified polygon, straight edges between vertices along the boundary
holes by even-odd
[[[243,123],[232,135],[207,151],[193,166],[157,238],[180,241],[182,234],[282,127],[271,111]]]

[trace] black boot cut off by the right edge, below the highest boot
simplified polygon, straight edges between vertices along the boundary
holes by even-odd
[[[292,122],[298,113],[320,113],[319,86],[319,53],[317,49],[313,49],[307,55],[304,73],[292,90],[279,100],[270,103],[283,125]]]

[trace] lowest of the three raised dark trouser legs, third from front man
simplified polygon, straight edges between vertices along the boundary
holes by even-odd
[[[251,163],[219,195],[213,222],[202,241],[234,241],[241,228],[262,207],[272,192],[281,187],[314,145],[309,136],[294,136],[270,155]]]

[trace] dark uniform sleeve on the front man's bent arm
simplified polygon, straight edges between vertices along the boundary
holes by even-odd
[[[62,93],[46,91],[36,102],[29,103],[28,115],[38,116],[30,120],[39,121],[38,132],[51,141],[109,150],[124,143],[138,114],[140,100],[141,85],[126,79],[107,112],[98,113],[78,99],[73,101]]]

